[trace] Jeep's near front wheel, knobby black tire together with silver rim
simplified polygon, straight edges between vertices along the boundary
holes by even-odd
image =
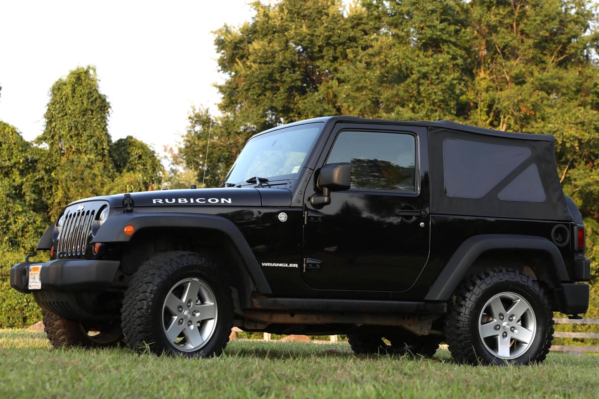
[[[218,356],[231,323],[226,278],[197,253],[168,252],[144,262],[123,300],[125,342],[158,355]]]

